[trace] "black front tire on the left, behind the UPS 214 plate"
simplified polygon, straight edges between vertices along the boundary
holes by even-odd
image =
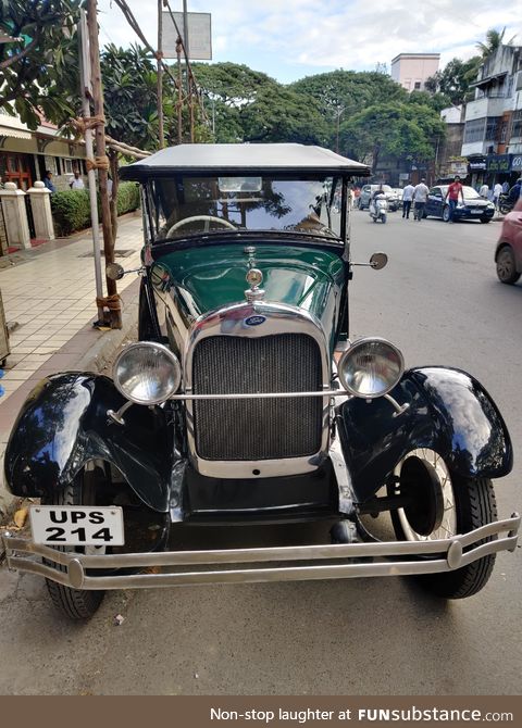
[[[53,493],[50,499],[41,499],[44,505],[96,505],[96,485],[103,478],[101,468],[89,473],[83,470],[73,482],[61,491]],[[100,475],[101,474],[101,475]],[[90,482],[87,485],[87,478]],[[65,549],[64,549],[65,550]],[[59,570],[65,570],[58,564],[47,563]],[[98,611],[104,591],[92,591],[90,589],[71,589],[57,581],[46,579],[49,595],[55,608],[69,619],[75,622],[90,619]]]

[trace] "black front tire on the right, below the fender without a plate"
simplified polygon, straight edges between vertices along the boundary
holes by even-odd
[[[497,520],[497,506],[492,481],[487,478],[464,478],[449,470],[455,495],[457,532],[467,534]],[[406,540],[399,515],[391,512],[391,522],[399,540]],[[488,537],[474,545],[492,541]],[[495,564],[495,554],[484,556],[455,572],[412,577],[426,591],[444,599],[464,599],[483,589]]]

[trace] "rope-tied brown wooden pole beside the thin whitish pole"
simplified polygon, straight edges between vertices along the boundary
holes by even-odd
[[[87,0],[87,26],[89,32],[89,51],[92,84],[92,101],[95,105],[95,115],[103,116],[103,91],[101,88],[100,70],[100,47],[98,42],[98,18],[97,0]],[[105,158],[105,130],[104,125],[99,124],[96,127],[96,152],[97,156]],[[98,168],[98,184],[100,188],[101,202],[101,226],[103,229],[103,251],[105,254],[105,266],[114,262],[114,240],[112,237],[111,211],[109,206],[109,196],[107,193],[107,170]],[[116,281],[107,278],[108,296],[116,296]],[[122,312],[120,310],[110,310],[111,328],[122,328]]]

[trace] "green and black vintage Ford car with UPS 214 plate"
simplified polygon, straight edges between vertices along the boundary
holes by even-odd
[[[412,575],[457,599],[514,550],[520,517],[497,520],[490,482],[512,448],[483,386],[349,340],[349,184],[369,172],[300,145],[122,170],[142,188],[139,340],[112,379],[44,379],[5,452],[12,493],[41,500],[30,538],[4,538],[9,565],[67,617],[107,589],[213,582]]]

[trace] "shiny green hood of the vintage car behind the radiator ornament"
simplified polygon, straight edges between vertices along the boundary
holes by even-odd
[[[338,253],[313,244],[256,243],[254,249],[265,300],[302,309],[332,329],[332,322],[325,319],[335,317],[346,279]],[[164,254],[156,250],[154,258],[154,290],[160,297],[174,298],[188,321],[246,300],[249,255],[245,243],[195,246]]]

